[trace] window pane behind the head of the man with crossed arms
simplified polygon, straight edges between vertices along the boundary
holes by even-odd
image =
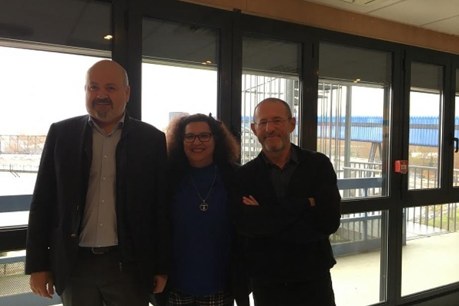
[[[282,99],[290,105],[297,123],[290,141],[299,143],[300,55],[299,43],[253,36],[242,38],[241,164],[261,151],[250,123],[255,105],[266,98]]]

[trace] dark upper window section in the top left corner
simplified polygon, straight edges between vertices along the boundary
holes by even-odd
[[[0,38],[110,51],[111,19],[103,1],[1,1]]]

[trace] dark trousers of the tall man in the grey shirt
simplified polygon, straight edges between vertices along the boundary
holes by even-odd
[[[79,252],[61,299],[64,306],[148,306],[135,264],[120,264],[117,251]]]

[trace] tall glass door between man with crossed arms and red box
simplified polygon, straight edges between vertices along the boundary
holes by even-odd
[[[332,161],[344,211],[330,237],[337,305],[385,302],[392,53],[321,42],[319,56],[317,151]]]

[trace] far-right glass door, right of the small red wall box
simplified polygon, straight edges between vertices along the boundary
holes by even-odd
[[[450,124],[457,114],[451,88],[450,60],[435,52],[410,49],[405,67],[403,175],[400,201],[401,301],[429,295],[459,281],[458,204],[451,197],[457,157],[453,160]],[[456,73],[456,71],[455,71]],[[457,89],[456,89],[457,91]],[[452,92],[452,91],[451,91]],[[457,124],[457,123],[456,123]],[[450,158],[451,157],[451,158]]]

